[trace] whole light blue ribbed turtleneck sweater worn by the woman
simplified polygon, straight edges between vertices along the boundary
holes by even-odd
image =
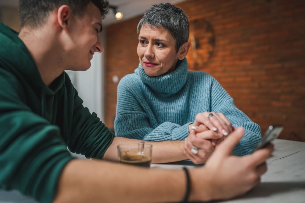
[[[261,138],[259,125],[235,107],[232,97],[211,75],[187,69],[185,58],[169,74],[150,77],[139,64],[135,73],[124,76],[117,89],[116,136],[184,140],[198,113],[221,112],[233,126],[245,128],[233,154],[251,153]]]

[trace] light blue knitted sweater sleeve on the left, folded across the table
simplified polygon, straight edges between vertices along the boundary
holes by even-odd
[[[141,89],[128,87],[123,78],[117,90],[117,112],[114,122],[115,134],[145,141],[184,140],[189,132],[188,125],[171,122],[158,124],[148,109],[147,101],[141,95]],[[150,119],[149,119],[150,118]]]

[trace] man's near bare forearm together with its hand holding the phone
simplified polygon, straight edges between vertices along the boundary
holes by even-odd
[[[232,149],[243,134],[242,128],[235,128],[205,166],[189,170],[189,201],[228,199],[245,194],[259,184],[260,176],[267,170],[265,161],[274,148],[269,144],[247,156],[232,156]],[[156,148],[163,147],[162,143],[158,144]],[[186,180],[183,170],[155,170],[104,160],[74,159],[59,177],[54,202],[179,202],[185,196]]]

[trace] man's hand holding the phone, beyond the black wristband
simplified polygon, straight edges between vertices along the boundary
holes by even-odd
[[[265,161],[271,156],[274,146],[269,144],[242,157],[232,156],[232,150],[243,134],[243,128],[234,128],[205,166],[192,171],[192,200],[228,199],[245,194],[260,183],[260,176],[267,171]],[[206,188],[206,185],[209,187]]]

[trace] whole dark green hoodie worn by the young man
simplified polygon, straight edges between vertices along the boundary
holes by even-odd
[[[52,202],[71,152],[101,158],[114,135],[63,72],[47,87],[16,31],[0,23],[0,187]]]

